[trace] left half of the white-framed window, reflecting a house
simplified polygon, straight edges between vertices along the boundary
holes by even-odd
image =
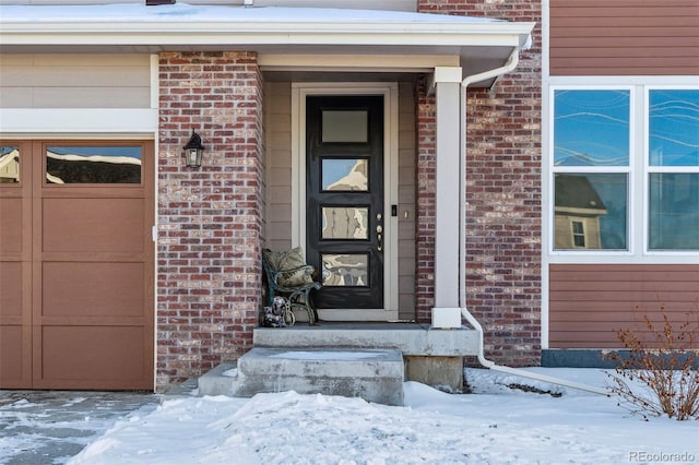
[[[553,95],[554,218],[590,218],[588,250],[628,250],[631,102],[629,88],[556,88]],[[556,250],[579,249],[556,228]]]

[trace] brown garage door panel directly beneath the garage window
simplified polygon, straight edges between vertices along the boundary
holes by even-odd
[[[143,199],[45,199],[43,251],[142,252]]]

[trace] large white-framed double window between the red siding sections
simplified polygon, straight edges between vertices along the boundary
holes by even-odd
[[[699,252],[699,87],[553,86],[549,97],[550,250]]]

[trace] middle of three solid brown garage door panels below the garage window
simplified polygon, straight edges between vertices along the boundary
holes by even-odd
[[[143,263],[44,263],[43,315],[142,317]]]

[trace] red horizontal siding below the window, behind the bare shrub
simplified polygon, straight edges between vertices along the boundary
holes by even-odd
[[[699,264],[553,264],[548,298],[550,348],[620,348],[625,329],[654,341],[642,318],[660,324],[661,306],[676,331],[688,319],[699,331]]]

